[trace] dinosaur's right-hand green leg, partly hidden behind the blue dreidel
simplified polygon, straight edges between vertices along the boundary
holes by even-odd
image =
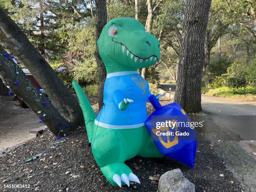
[[[143,138],[145,141],[145,144],[143,148],[141,148],[140,152],[138,153],[138,156],[142,157],[163,157],[163,155],[158,151],[156,148],[155,143],[151,140],[151,137],[148,135],[146,128],[143,132]]]

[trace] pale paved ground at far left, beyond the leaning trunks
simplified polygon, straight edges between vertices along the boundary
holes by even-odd
[[[14,105],[13,97],[0,97],[0,147],[3,148],[27,141],[28,131],[42,126],[30,108]]]

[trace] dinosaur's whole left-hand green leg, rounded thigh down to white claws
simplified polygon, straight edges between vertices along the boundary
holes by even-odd
[[[115,129],[105,129],[92,143],[92,153],[106,179],[114,186],[138,182],[138,177],[124,163],[128,156],[128,144]]]

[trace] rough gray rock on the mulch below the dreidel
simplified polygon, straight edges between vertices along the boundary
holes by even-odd
[[[195,192],[195,185],[183,176],[180,169],[174,169],[161,175],[159,192]]]

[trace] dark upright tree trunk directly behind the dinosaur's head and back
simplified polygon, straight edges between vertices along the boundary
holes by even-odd
[[[107,23],[107,5],[106,5],[106,0],[95,0],[95,4],[96,4],[95,36],[96,36],[96,42],[97,42],[100,37],[102,28]],[[96,44],[94,56],[96,58],[98,71],[99,71],[98,104],[100,109],[102,108],[102,105],[103,105],[103,89],[104,89],[104,83],[107,76],[107,72],[106,72],[104,63],[100,58],[97,44]]]

